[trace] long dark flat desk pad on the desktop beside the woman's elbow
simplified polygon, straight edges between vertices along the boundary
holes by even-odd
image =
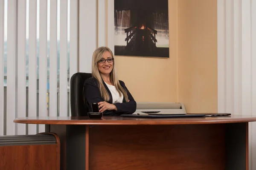
[[[145,115],[145,114],[121,114],[123,117],[143,117],[143,118],[182,118],[182,117],[204,117],[204,114],[169,114],[169,115]]]

